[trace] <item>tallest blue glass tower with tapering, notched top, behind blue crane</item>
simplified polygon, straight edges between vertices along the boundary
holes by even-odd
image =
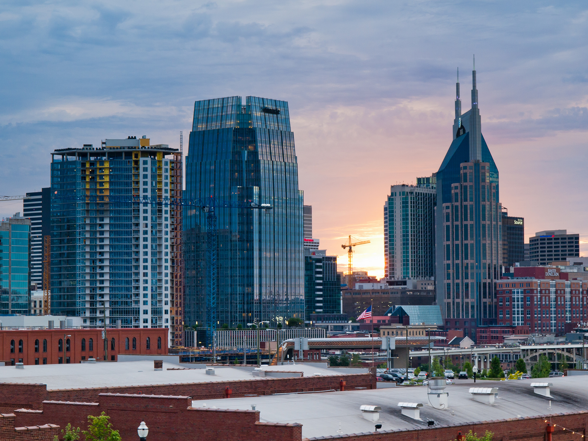
[[[248,96],[196,101],[186,198],[269,203],[216,209],[218,325],[304,317],[303,195],[288,103]],[[206,326],[206,213],[184,212],[186,322]]]

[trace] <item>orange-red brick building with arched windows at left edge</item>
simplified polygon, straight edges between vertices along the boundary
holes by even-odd
[[[95,358],[116,361],[121,354],[168,353],[165,328],[0,330],[0,360],[6,364],[51,365]]]

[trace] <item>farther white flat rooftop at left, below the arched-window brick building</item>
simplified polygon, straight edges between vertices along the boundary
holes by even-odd
[[[253,376],[252,368],[224,368],[215,366],[215,375],[206,375],[206,369],[178,369],[178,365],[163,363],[163,370],[153,370],[153,361],[97,362],[69,365],[0,366],[0,383],[42,383],[48,390],[84,387],[148,386],[177,383],[223,382],[232,380],[263,380]],[[298,371],[304,376],[341,375],[340,370],[311,365],[265,366],[271,371]],[[349,373],[354,369],[350,369]]]

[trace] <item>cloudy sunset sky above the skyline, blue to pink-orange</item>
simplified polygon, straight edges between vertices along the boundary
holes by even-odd
[[[383,204],[436,172],[452,141],[456,69],[500,199],[526,238],[580,234],[588,255],[584,1],[27,1],[0,5],[1,195],[49,186],[49,153],[146,135],[179,146],[194,101],[289,102],[299,188],[321,248],[383,276]],[[0,216],[22,211],[0,202]]]

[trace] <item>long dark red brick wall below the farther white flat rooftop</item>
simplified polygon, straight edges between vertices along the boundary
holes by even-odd
[[[195,400],[225,397],[225,389],[232,389],[232,397],[245,395],[271,395],[284,392],[309,392],[313,390],[339,389],[339,381],[346,382],[345,390],[355,387],[376,388],[376,376],[358,373],[336,376],[312,376],[290,378],[260,378],[229,382],[181,383],[175,385],[100,387],[93,389],[46,390],[45,385],[19,385],[0,383],[0,410],[12,412],[15,409],[44,409],[43,400],[99,402],[99,394],[142,393],[153,395],[184,395]]]

